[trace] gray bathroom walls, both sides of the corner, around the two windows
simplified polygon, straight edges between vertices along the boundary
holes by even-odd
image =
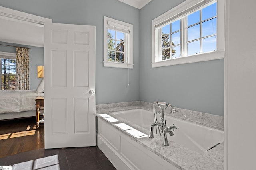
[[[8,0],[0,6],[50,18],[54,23],[96,26],[96,104],[142,100],[224,115],[224,60],[152,68],[152,19],[183,0],[152,0],[141,10],[118,0]],[[164,4],[164,5],[163,5]],[[103,67],[103,16],[133,24],[134,69]]]

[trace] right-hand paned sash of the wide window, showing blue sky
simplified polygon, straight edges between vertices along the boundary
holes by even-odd
[[[188,16],[187,20],[187,51],[184,56],[216,51],[217,49],[217,2],[210,4]],[[187,52],[187,55],[186,55]]]

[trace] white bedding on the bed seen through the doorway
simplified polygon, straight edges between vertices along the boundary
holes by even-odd
[[[0,90],[0,114],[36,111],[36,90]]]

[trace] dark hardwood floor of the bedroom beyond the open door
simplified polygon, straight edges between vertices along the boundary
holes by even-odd
[[[35,126],[35,117],[0,121],[0,158],[44,148],[44,124],[38,129]]]

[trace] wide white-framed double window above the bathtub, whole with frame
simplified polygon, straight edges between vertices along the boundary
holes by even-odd
[[[224,58],[223,3],[186,0],[152,20],[152,67]]]

